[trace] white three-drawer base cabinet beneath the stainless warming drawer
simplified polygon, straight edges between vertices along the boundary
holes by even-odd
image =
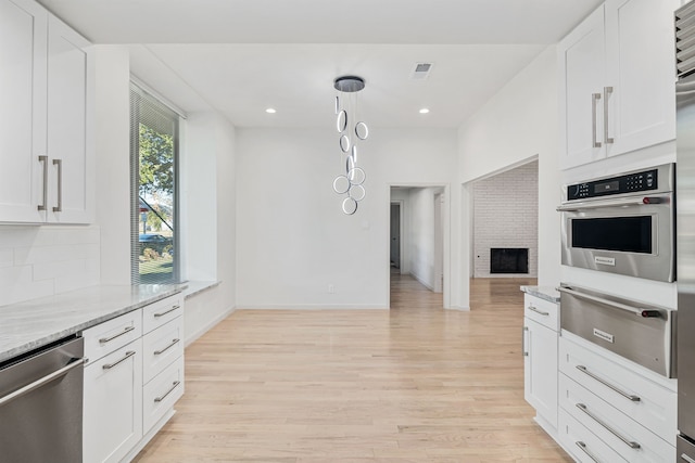
[[[665,386],[670,380],[658,384],[642,366],[566,332],[559,347],[558,439],[574,459],[675,461],[677,393]]]

